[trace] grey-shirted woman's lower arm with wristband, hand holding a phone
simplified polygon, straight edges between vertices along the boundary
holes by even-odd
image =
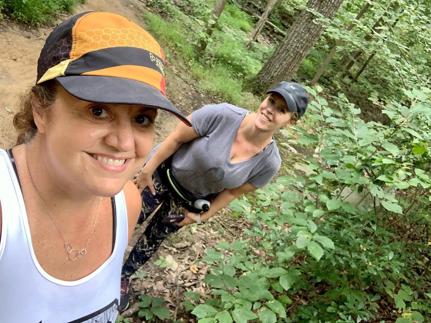
[[[255,191],[256,189],[257,187],[254,187],[249,183],[244,183],[241,186],[235,187],[233,189],[223,189],[222,192],[217,194],[214,201],[211,202],[209,210],[200,214],[201,221],[207,220],[212,214],[220,211],[238,196],[241,196],[244,193]],[[177,223],[178,226],[183,227],[187,224],[196,223],[196,213],[189,212],[184,209],[184,214],[186,217],[183,221]]]

